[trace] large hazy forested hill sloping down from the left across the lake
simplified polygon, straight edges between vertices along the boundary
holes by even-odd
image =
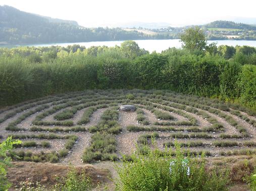
[[[151,36],[120,28],[84,28],[72,21],[42,17],[0,6],[0,44],[35,44],[149,39]],[[169,38],[169,37],[166,37]]]

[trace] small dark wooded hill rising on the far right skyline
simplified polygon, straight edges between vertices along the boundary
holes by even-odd
[[[256,26],[247,25],[243,23],[235,23],[232,21],[214,21],[207,25],[206,28],[222,28],[222,29],[241,29],[241,30],[256,30]]]

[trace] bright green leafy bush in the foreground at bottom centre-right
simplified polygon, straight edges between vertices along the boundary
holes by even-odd
[[[184,158],[179,145],[176,145],[175,158],[168,151],[165,155],[160,153],[150,149],[146,155],[137,152],[132,162],[118,165],[117,190],[227,190],[228,174],[217,170],[207,172],[203,154],[199,163],[197,158]]]

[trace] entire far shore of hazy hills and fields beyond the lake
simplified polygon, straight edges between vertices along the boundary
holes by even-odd
[[[144,39],[178,39],[187,27],[85,28],[76,21],[67,21],[0,6],[0,45],[76,43]],[[160,28],[161,26],[161,28]],[[202,25],[208,40],[255,40],[256,27],[230,21]]]

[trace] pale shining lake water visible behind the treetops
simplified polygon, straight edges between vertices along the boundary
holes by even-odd
[[[53,43],[53,44],[29,44],[29,45],[22,45],[22,46],[35,46],[35,47],[42,47],[42,46],[68,46],[73,44],[79,44],[80,46],[85,46],[86,48],[91,46],[120,46],[121,43],[124,41],[100,41],[100,42],[76,42],[76,43]],[[139,45],[140,48],[144,48],[149,52],[157,51],[161,52],[162,50],[166,50],[169,47],[176,47],[181,48],[181,42],[179,39],[170,39],[170,40],[135,40],[135,42]],[[216,42],[217,46],[220,45],[228,45],[228,46],[253,46],[256,47],[256,41],[248,41],[248,40],[209,40],[208,43]],[[17,45],[19,46],[19,45]],[[15,47],[17,47],[15,46]],[[3,46],[2,46],[3,47]]]

